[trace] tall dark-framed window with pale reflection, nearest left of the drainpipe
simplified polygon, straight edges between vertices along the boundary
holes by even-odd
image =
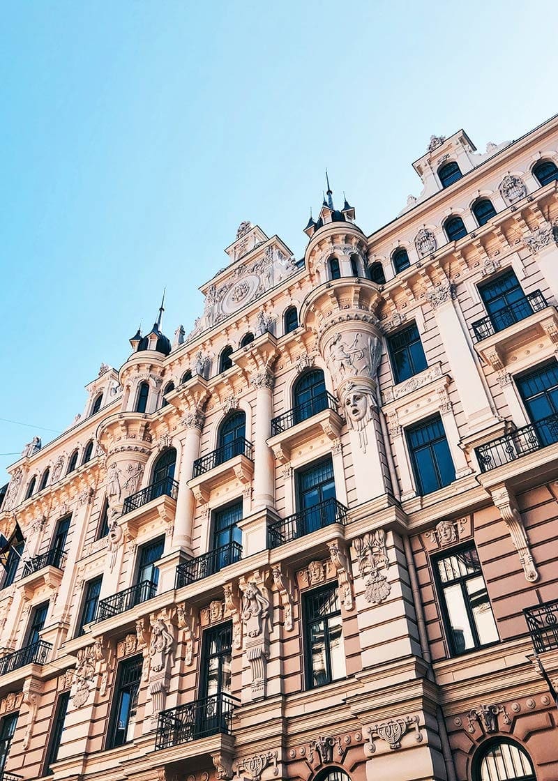
[[[341,608],[338,584],[304,594],[306,628],[306,688],[345,678]]]

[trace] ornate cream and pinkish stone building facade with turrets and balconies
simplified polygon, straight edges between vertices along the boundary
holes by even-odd
[[[413,165],[9,469],[5,781],[558,778],[558,119]]]

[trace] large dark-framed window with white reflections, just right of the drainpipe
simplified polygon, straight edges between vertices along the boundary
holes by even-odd
[[[474,545],[434,562],[452,656],[499,640],[481,563]]]

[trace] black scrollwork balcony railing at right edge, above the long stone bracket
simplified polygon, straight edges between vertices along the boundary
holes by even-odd
[[[505,434],[492,442],[481,444],[474,451],[481,472],[489,472],[503,464],[510,464],[522,455],[534,453],[549,444],[558,442],[558,415],[521,426],[520,429]]]

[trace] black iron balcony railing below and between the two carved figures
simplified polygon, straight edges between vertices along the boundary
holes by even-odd
[[[159,713],[156,751],[209,735],[230,735],[234,704],[230,694],[211,694],[201,700],[179,705]]]

